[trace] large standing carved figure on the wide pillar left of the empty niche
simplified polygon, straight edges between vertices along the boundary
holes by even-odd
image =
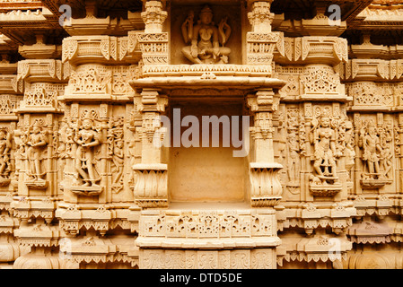
[[[95,183],[94,147],[101,144],[100,135],[93,127],[93,119],[83,118],[83,126],[76,131],[74,142],[78,144],[75,156],[75,169],[83,178],[83,187],[98,187]]]

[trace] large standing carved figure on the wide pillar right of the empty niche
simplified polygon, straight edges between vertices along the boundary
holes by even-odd
[[[330,118],[322,116],[320,127],[314,131],[313,168],[320,179],[335,179],[337,181],[336,166],[336,132],[330,126]]]

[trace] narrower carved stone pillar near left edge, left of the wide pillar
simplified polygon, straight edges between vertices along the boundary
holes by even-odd
[[[40,35],[36,44],[20,47],[26,60],[18,62],[17,81],[24,83],[24,95],[16,109],[20,117],[14,131],[18,191],[12,206],[20,222],[14,235],[22,246],[31,247],[31,252],[19,257],[15,268],[59,267],[58,258],[51,251],[59,239],[57,226],[52,222],[60,200],[57,131],[64,105],[58,97],[63,95],[66,84],[59,52],[60,47],[44,44]],[[45,263],[48,259],[43,257],[44,253],[49,254],[52,264]]]

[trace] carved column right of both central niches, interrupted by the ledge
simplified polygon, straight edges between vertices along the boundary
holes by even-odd
[[[274,18],[274,13],[270,13],[271,3],[250,1],[248,18],[252,30],[247,33],[248,65],[272,64],[280,33],[271,31]],[[278,172],[283,166],[275,162],[273,145],[273,112],[277,109],[278,99],[272,89],[267,89],[250,94],[247,100],[255,121],[250,128],[254,140],[250,162],[250,204],[252,207],[273,207],[282,194]]]

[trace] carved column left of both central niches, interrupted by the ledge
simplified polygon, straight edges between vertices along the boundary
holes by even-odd
[[[168,65],[168,32],[163,32],[162,23],[168,13],[162,10],[162,1],[146,1],[141,13],[145,22],[144,33],[136,37],[142,51],[143,65]],[[142,116],[142,126],[136,131],[141,138],[141,163],[135,164],[135,202],[142,208],[168,206],[168,171],[162,163],[162,148],[155,142],[154,135],[161,125],[160,115],[168,104],[167,96],[161,91],[143,89],[135,103]]]

